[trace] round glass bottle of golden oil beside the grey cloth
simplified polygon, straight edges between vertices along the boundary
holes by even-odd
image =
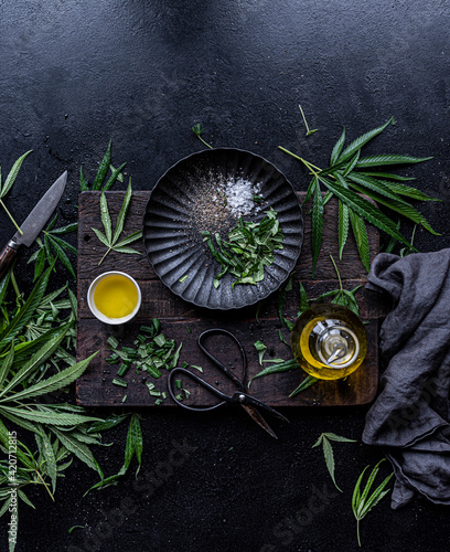
[[[297,320],[291,349],[301,368],[321,380],[346,378],[363,362],[367,337],[361,319],[339,305],[314,305]]]

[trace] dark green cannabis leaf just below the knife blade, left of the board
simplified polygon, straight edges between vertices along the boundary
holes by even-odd
[[[53,264],[54,256],[58,257],[62,265],[72,274],[74,278],[76,278],[76,274],[67,256],[67,252],[75,255],[77,255],[78,252],[76,247],[63,240],[61,235],[75,232],[78,229],[78,223],[74,222],[72,224],[67,224],[66,226],[55,229],[54,225],[56,223],[56,219],[57,214],[43,231],[43,241],[40,237],[36,237],[39,248],[29,258],[29,263],[35,263],[33,282],[41,276],[43,269],[45,268],[45,262],[50,265]]]

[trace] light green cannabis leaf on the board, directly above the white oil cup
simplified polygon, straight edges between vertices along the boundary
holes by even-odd
[[[138,251],[133,250],[132,247],[127,247],[127,245],[129,245],[130,243],[136,242],[137,240],[142,237],[141,230],[133,232],[132,234],[128,235],[127,237],[124,237],[122,240],[120,240],[118,242],[120,234],[124,230],[125,217],[127,215],[128,205],[130,204],[131,193],[132,193],[132,190],[131,190],[131,179],[130,179],[128,182],[127,191],[125,193],[124,203],[122,203],[120,212],[117,216],[116,229],[115,229],[114,234],[113,234],[111,217],[109,215],[108,203],[106,201],[105,193],[101,192],[101,195],[100,195],[100,216],[101,216],[101,223],[103,223],[104,229],[105,229],[105,234],[97,229],[92,229],[94,231],[95,235],[98,237],[98,240],[107,247],[107,251],[106,251],[105,255],[100,258],[100,262],[98,263],[98,265],[100,265],[103,263],[104,258],[106,257],[106,255],[110,251],[116,251],[118,253],[136,253],[136,254],[140,255],[140,253]]]

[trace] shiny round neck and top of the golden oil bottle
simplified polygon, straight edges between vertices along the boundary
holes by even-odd
[[[311,352],[326,368],[342,370],[349,368],[360,353],[360,341],[346,325],[340,320],[323,320],[315,325],[310,335]]]

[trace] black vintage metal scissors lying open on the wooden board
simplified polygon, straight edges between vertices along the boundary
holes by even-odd
[[[205,339],[208,336],[212,335],[223,335],[227,336],[231,339],[233,339],[236,344],[239,348],[242,361],[243,361],[243,375],[242,379],[239,379],[232,370],[226,368],[214,354],[212,354],[207,348],[205,347]],[[278,438],[277,435],[274,433],[274,431],[270,428],[269,424],[264,420],[262,415],[258,412],[257,408],[260,408],[265,412],[268,412],[272,414],[274,416],[283,420],[285,422],[289,422],[282,414],[277,412],[275,408],[271,406],[268,406],[265,404],[262,401],[259,401],[258,399],[249,395],[248,393],[245,392],[245,374],[247,370],[247,358],[244,351],[244,348],[240,343],[240,341],[234,336],[232,332],[221,329],[221,328],[213,328],[211,330],[206,330],[203,333],[199,336],[197,339],[197,344],[200,349],[206,354],[206,357],[227,376],[229,378],[234,384],[237,386],[237,391],[233,393],[232,395],[227,395],[223,393],[221,390],[215,388],[214,385],[211,385],[207,381],[203,380],[203,378],[200,378],[197,374],[191,372],[190,370],[186,370],[185,368],[173,368],[170,373],[169,373],[169,379],[168,379],[168,386],[169,386],[169,393],[173,401],[182,406],[183,408],[186,408],[189,411],[194,411],[194,412],[208,412],[215,408],[218,408],[219,406],[223,406],[226,403],[232,403],[232,404],[240,404],[243,408],[247,412],[247,414],[260,426],[262,429],[265,429],[269,435],[271,435],[275,438]],[[213,405],[213,406],[190,406],[189,404],[183,403],[179,399],[176,399],[175,393],[173,391],[173,380],[176,376],[180,376],[181,374],[190,378],[194,382],[199,383],[203,388],[207,389],[211,391],[211,393],[215,394],[221,399],[221,402]]]

